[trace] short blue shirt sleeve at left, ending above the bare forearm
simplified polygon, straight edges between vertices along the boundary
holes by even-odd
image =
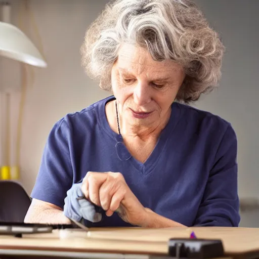
[[[70,147],[71,131],[68,120],[58,121],[48,137],[31,197],[50,202],[61,208],[66,192],[72,186],[73,170]]]

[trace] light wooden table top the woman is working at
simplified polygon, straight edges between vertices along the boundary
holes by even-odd
[[[227,257],[259,258],[259,229],[253,228],[98,228],[90,232],[65,230],[50,234],[25,234],[22,238],[0,236],[0,255],[48,255],[77,258],[164,257],[169,238],[221,239]],[[64,232],[63,232],[64,234]]]

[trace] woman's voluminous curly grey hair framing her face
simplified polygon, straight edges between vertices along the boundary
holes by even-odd
[[[224,46],[190,0],[116,0],[91,24],[81,46],[82,66],[111,91],[111,69],[123,43],[147,48],[156,61],[185,69],[177,100],[196,101],[217,87]]]

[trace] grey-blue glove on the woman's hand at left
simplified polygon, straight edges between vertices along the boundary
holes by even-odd
[[[81,191],[81,185],[82,183],[73,184],[67,191],[63,209],[64,215],[77,222],[82,219],[94,223],[100,222],[102,220],[102,208],[82,198],[84,195]]]

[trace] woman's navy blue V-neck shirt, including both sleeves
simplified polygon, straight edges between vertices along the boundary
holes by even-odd
[[[168,124],[141,163],[108,124],[109,97],[53,127],[31,197],[63,208],[88,171],[121,172],[144,207],[186,226],[238,226],[237,139],[230,123],[174,102]],[[117,146],[116,146],[117,144]],[[131,226],[114,213],[88,226]]]

